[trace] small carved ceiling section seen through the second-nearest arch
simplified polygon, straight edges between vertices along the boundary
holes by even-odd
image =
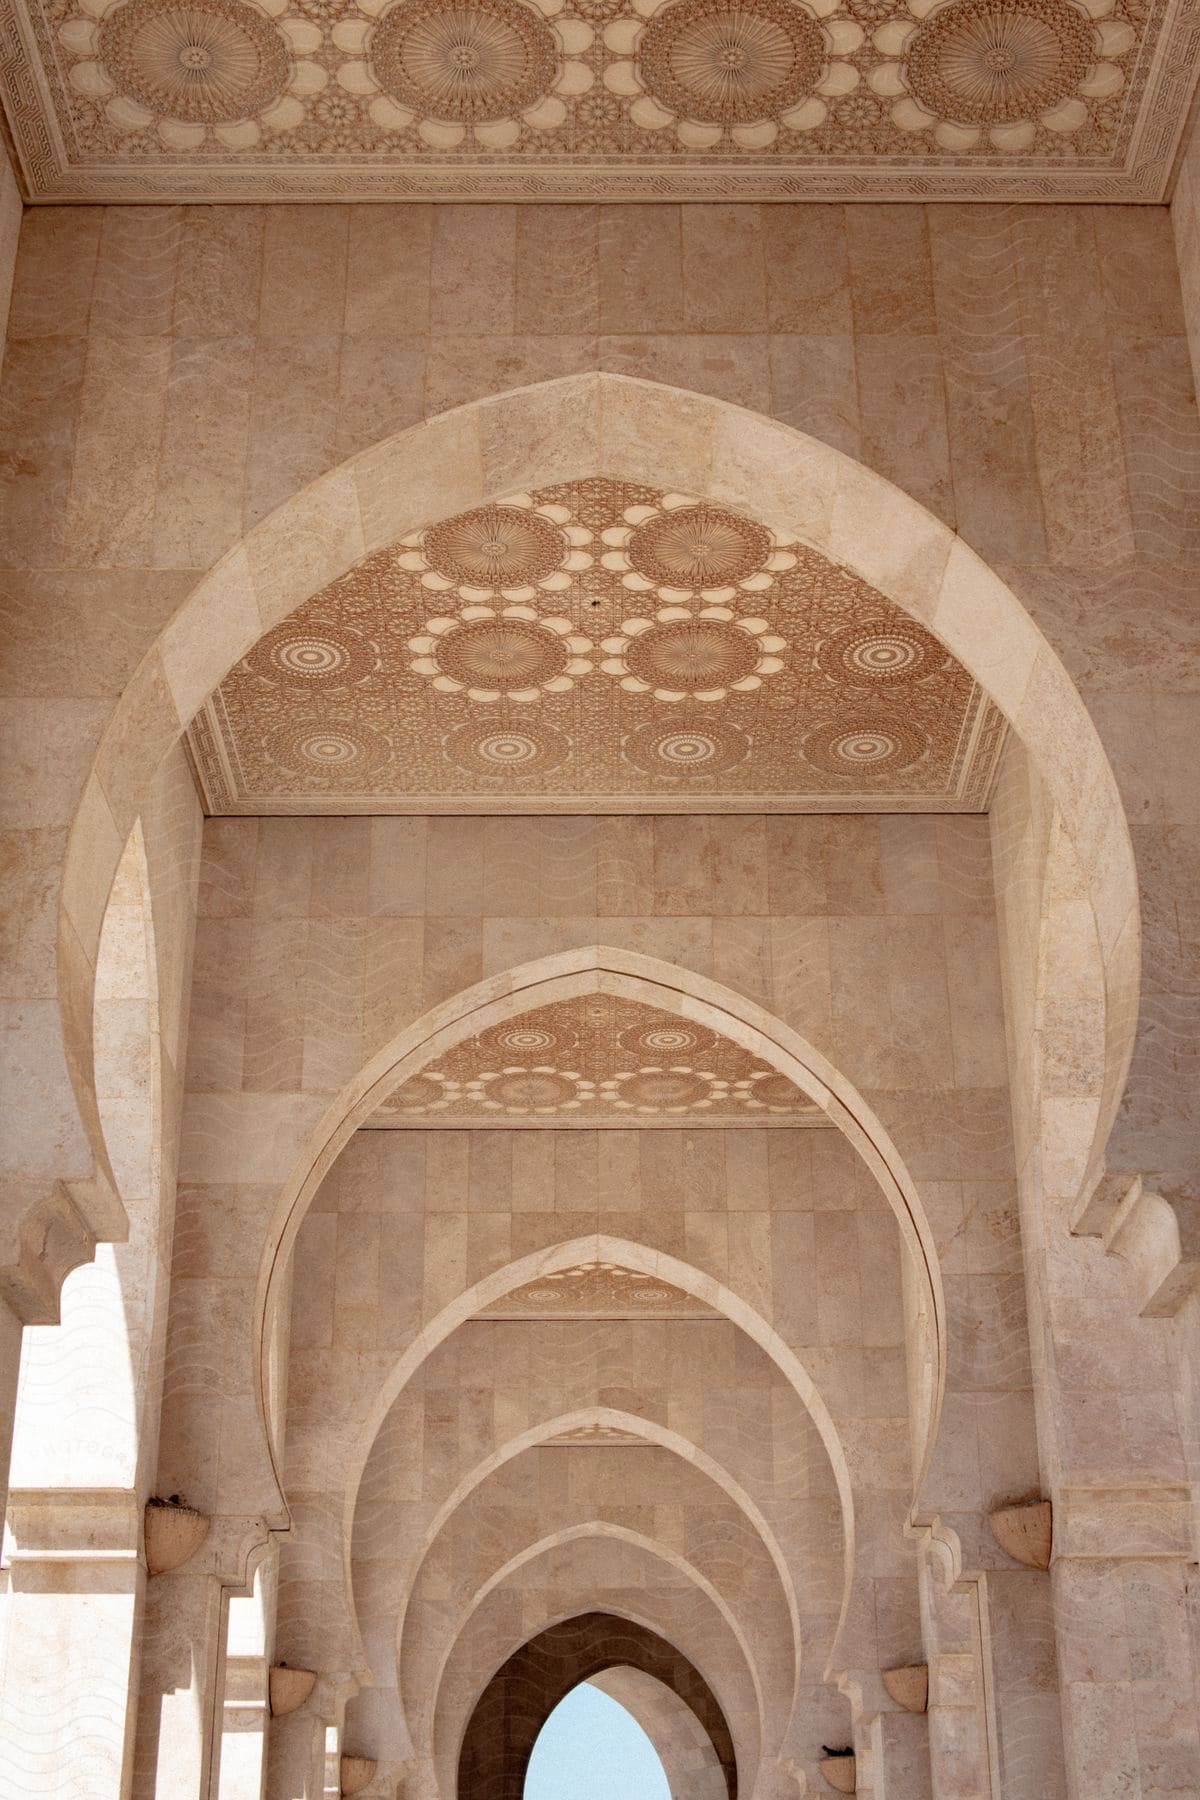
[[[676,1013],[612,994],[491,1026],[408,1076],[369,1125],[826,1125],[786,1075]]]

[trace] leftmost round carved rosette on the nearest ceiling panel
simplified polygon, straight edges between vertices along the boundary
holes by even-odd
[[[281,32],[241,0],[124,0],[101,20],[99,59],[130,99],[189,124],[261,113],[291,72]]]

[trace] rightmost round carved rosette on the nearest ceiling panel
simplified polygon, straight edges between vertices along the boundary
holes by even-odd
[[[1011,124],[1065,101],[1094,59],[1092,20],[1069,0],[950,0],[912,38],[905,76],[939,119]]]

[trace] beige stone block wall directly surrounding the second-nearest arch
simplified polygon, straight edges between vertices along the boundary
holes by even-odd
[[[200,913],[173,1292],[182,1343],[214,1305],[248,1330],[272,1183],[369,1057],[480,977],[594,943],[727,983],[801,1031],[892,1132],[934,1229],[957,1238],[973,1220],[981,1262],[955,1271],[963,1294],[1013,1285],[982,819],[210,821]],[[421,1318],[554,1238],[536,1211],[500,1235],[466,1215],[443,1231]],[[772,1316],[745,1231],[709,1255]],[[676,1238],[664,1247],[682,1253]],[[272,1505],[254,1474],[248,1375],[230,1370],[223,1390],[236,1453],[200,1458],[193,1476],[218,1510]],[[196,1463],[191,1390],[212,1418],[182,1357],[164,1438],[173,1487]],[[1031,1458],[1025,1445],[1022,1478]]]

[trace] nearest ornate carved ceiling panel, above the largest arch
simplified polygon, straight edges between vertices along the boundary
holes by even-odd
[[[0,0],[34,200],[1160,200],[1200,0]]]

